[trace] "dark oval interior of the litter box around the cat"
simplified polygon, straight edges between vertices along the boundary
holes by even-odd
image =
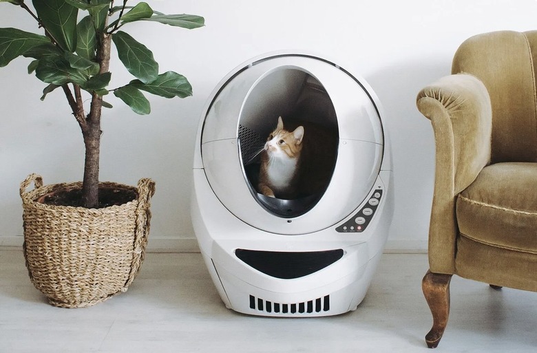
[[[307,72],[296,68],[280,68],[266,75],[253,87],[242,108],[238,137],[244,178],[249,189],[267,211],[280,217],[297,217],[307,213],[324,195],[329,181],[321,191],[298,195],[293,200],[267,197],[258,193],[260,154],[266,137],[275,129],[277,118],[308,122],[333,137],[333,173],[337,159],[339,133],[337,116],[330,96],[322,83]]]

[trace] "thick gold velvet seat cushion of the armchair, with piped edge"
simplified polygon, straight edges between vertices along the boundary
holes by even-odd
[[[457,197],[456,217],[475,242],[537,254],[537,163],[485,167]]]

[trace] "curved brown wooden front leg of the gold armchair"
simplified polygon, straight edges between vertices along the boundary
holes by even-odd
[[[452,275],[428,271],[421,288],[432,314],[432,328],[425,336],[429,348],[436,348],[442,338],[450,316],[450,281]]]

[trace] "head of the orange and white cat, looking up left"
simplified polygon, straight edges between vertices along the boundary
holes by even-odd
[[[302,151],[302,138],[304,127],[299,126],[295,131],[287,131],[280,116],[276,129],[266,139],[264,149],[271,157],[296,158]]]

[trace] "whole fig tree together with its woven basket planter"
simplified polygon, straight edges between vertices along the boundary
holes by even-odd
[[[137,187],[99,182],[101,111],[109,96],[137,114],[149,114],[143,92],[165,98],[192,94],[185,76],[159,74],[152,52],[124,31],[152,21],[193,29],[204,19],[162,14],[145,2],[114,0],[0,0],[28,12],[43,34],[0,28],[0,67],[19,56],[32,58],[28,72],[47,85],[43,96],[62,91],[85,144],[83,181],[43,186],[32,174],[21,183],[24,254],[30,279],[54,306],[90,306],[127,290],[143,261],[154,182]],[[110,52],[134,79],[110,89]],[[89,96],[89,107],[84,106]],[[34,184],[34,189],[28,187]]]

